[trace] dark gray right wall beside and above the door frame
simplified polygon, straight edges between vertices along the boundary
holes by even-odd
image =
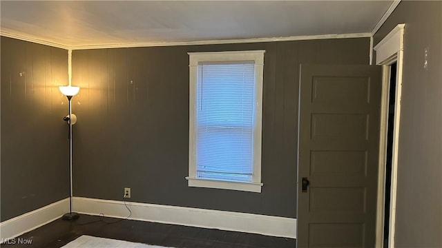
[[[442,247],[442,1],[401,1],[374,44],[398,23],[405,41],[395,242]]]

